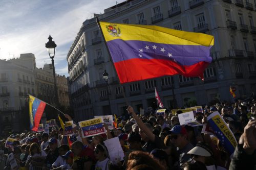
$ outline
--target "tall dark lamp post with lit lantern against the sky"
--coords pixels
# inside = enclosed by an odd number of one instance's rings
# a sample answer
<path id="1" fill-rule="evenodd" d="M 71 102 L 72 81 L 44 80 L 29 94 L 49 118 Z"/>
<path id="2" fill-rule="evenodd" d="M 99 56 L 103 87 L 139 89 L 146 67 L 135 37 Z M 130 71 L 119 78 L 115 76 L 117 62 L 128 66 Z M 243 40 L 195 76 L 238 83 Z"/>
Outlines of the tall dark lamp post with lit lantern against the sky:
<path id="1" fill-rule="evenodd" d="M 56 83 L 56 76 L 55 76 L 55 67 L 54 67 L 54 56 L 55 56 L 55 47 L 57 46 L 54 41 L 52 41 L 51 35 L 48 37 L 49 41 L 46 43 L 46 48 L 49 53 L 50 58 L 52 59 L 52 70 L 53 70 L 53 82 L 54 82 L 54 91 L 56 96 L 56 105 L 59 106 L 59 98 L 58 98 L 58 91 L 57 91 L 57 83 Z"/>

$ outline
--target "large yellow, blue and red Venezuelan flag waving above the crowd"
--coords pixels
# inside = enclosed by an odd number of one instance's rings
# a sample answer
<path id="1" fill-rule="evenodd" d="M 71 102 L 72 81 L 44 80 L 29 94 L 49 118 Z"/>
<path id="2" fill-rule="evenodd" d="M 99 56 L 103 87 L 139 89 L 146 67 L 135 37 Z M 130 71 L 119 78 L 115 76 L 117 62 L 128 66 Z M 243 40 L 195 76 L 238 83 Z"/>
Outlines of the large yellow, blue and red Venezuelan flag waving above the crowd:
<path id="1" fill-rule="evenodd" d="M 99 22 L 120 83 L 167 75 L 201 77 L 214 37 L 159 26 Z"/>

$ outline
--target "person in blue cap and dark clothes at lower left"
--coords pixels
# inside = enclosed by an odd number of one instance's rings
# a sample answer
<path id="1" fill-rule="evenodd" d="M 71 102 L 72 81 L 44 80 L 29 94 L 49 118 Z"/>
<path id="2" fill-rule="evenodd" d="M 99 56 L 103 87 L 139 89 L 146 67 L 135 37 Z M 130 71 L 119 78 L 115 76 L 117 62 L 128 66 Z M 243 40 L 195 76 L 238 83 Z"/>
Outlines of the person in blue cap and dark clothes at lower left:
<path id="1" fill-rule="evenodd" d="M 45 164 L 46 164 L 46 167 L 51 168 L 53 162 L 55 162 L 59 156 L 58 140 L 56 138 L 51 138 L 49 139 L 48 144 L 49 144 L 50 151 L 46 156 Z"/>

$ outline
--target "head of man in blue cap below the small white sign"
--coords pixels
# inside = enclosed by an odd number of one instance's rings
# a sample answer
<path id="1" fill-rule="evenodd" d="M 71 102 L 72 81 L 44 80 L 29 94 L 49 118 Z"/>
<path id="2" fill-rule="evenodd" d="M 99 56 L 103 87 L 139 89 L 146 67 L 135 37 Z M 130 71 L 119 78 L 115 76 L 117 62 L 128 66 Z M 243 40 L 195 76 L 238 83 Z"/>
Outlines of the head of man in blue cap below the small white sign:
<path id="1" fill-rule="evenodd" d="M 170 130 L 170 137 L 175 147 L 182 149 L 188 143 L 187 131 L 185 127 L 176 125 Z"/>

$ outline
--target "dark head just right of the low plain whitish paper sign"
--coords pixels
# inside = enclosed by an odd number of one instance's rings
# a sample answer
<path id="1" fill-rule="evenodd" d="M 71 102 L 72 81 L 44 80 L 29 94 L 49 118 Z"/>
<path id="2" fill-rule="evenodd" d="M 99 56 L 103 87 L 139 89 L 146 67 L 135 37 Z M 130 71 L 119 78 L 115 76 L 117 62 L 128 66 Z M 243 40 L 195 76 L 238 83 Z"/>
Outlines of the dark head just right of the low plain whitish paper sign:
<path id="1" fill-rule="evenodd" d="M 129 133 L 127 142 L 130 150 L 141 150 L 141 137 L 137 132 Z"/>

